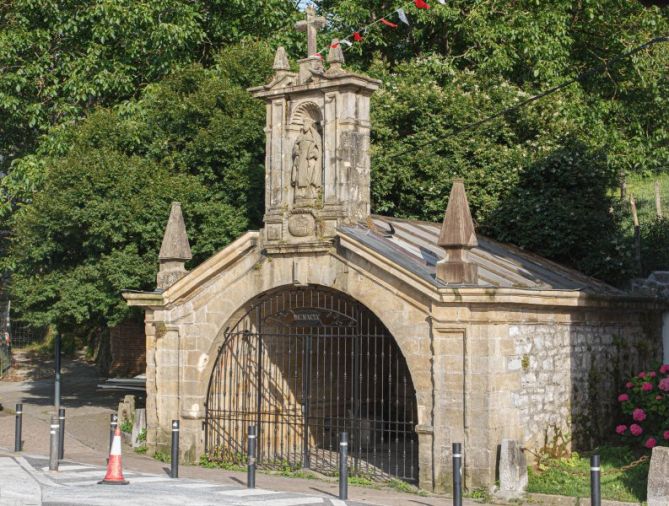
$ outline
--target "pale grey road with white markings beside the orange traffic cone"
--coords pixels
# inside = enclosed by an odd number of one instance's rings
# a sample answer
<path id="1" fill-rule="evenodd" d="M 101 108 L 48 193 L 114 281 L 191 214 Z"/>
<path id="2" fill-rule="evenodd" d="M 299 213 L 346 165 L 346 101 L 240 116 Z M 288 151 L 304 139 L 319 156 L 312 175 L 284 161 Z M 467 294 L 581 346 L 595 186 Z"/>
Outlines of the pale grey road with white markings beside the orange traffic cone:
<path id="1" fill-rule="evenodd" d="M 173 480 L 166 475 L 125 472 L 126 486 L 99 485 L 105 468 L 64 461 L 58 472 L 48 470 L 39 456 L 0 456 L 0 505 L 168 506 L 353 506 L 340 501 L 271 490 L 249 490 L 243 485 L 221 485 L 204 480 Z"/>

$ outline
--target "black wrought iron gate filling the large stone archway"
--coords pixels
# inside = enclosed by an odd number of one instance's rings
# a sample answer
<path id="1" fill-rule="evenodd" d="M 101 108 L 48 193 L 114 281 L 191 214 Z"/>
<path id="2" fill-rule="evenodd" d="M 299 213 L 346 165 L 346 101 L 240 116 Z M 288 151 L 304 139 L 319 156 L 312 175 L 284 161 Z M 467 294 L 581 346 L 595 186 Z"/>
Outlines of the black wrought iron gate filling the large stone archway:
<path id="1" fill-rule="evenodd" d="M 226 331 L 209 383 L 209 459 L 337 472 L 339 433 L 350 468 L 372 479 L 418 478 L 416 396 L 395 340 L 368 309 L 325 288 L 265 295 Z"/>

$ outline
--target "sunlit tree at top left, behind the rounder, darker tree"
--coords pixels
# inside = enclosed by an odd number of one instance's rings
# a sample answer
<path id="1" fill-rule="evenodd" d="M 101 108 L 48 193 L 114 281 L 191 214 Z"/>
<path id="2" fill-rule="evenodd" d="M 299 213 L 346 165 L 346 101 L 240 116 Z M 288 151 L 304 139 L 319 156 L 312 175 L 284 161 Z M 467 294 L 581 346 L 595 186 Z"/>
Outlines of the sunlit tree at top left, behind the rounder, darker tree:
<path id="1" fill-rule="evenodd" d="M 0 214 L 29 198 L 42 171 L 32 153 L 54 127 L 138 96 L 175 68 L 209 65 L 221 46 L 273 35 L 290 0 L 10 0 L 0 5 Z"/>

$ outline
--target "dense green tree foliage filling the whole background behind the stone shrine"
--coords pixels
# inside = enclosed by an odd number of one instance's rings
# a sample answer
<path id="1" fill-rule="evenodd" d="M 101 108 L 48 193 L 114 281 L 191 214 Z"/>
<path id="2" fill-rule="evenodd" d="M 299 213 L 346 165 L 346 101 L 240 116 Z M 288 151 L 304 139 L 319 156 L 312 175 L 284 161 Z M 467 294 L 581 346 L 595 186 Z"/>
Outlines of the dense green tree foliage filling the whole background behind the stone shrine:
<path id="1" fill-rule="evenodd" d="M 462 176 L 480 232 L 613 282 L 635 274 L 629 210 L 613 188 L 620 173 L 669 167 L 669 44 L 469 125 L 669 34 L 667 9 L 429 3 L 407 9 L 410 29 L 377 24 L 346 52 L 384 82 L 372 104 L 373 210 L 440 220 Z M 330 21 L 322 46 L 396 6 L 317 5 Z M 118 291 L 153 286 L 172 199 L 184 203 L 194 263 L 260 225 L 264 109 L 245 87 L 268 78 L 279 43 L 302 56 L 303 35 L 288 29 L 297 17 L 289 0 L 0 7 L 0 219 L 12 229 L 2 264 L 25 319 L 122 318 Z M 661 220 L 642 230 L 653 266 L 665 258 L 651 241 L 666 230 Z"/>

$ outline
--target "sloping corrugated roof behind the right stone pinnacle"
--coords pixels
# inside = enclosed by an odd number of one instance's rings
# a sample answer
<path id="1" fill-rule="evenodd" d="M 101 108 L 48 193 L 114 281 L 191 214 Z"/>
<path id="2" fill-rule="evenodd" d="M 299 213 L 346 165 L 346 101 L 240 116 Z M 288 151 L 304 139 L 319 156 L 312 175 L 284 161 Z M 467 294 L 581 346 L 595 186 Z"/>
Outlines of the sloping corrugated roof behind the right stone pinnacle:
<path id="1" fill-rule="evenodd" d="M 341 227 L 340 232 L 382 254 L 435 286 L 435 266 L 444 258 L 437 246 L 441 224 L 372 216 L 369 226 Z M 470 252 L 478 265 L 478 286 L 533 290 L 576 290 L 622 295 L 624 292 L 518 247 L 477 235 L 478 246 Z"/>

